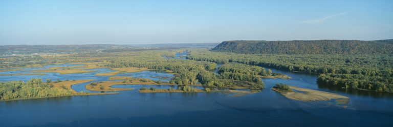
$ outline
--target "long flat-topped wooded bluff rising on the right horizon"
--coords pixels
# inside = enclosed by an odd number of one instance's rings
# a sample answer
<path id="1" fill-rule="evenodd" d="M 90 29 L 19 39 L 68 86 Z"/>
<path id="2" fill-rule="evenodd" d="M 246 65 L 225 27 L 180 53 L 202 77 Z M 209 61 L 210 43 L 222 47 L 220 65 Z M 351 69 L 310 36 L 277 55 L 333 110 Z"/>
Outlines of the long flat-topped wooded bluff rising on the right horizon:
<path id="1" fill-rule="evenodd" d="M 224 41 L 212 51 L 243 54 L 393 54 L 393 39 Z"/>

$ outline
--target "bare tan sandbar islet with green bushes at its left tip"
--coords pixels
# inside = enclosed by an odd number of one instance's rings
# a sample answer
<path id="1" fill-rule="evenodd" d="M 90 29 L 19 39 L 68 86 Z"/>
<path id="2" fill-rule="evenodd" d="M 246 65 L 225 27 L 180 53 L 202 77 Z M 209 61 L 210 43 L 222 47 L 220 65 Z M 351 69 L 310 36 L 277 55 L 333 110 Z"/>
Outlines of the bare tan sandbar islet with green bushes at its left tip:
<path id="1" fill-rule="evenodd" d="M 340 94 L 331 93 L 331 92 L 299 88 L 295 86 L 290 86 L 290 88 L 301 92 L 297 92 L 297 91 L 285 92 L 277 89 L 273 89 L 273 90 L 281 93 L 283 96 L 285 96 L 288 99 L 302 101 L 302 102 L 329 101 L 331 99 L 342 99 L 342 100 L 346 100 L 345 102 L 348 102 L 348 100 L 350 99 L 348 97 L 341 96 Z"/>

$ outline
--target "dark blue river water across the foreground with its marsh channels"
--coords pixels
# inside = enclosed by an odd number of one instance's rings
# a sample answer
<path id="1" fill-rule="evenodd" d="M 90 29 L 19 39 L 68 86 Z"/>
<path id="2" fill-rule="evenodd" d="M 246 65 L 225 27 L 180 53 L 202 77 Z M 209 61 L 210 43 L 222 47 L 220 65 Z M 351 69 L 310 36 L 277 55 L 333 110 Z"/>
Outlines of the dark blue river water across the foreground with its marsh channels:
<path id="1" fill-rule="evenodd" d="M 68 75 L 47 73 L 36 77 L 106 81 L 107 76 L 95 74 L 111 70 L 96 71 Z M 136 90 L 99 96 L 0 102 L 0 126 L 393 126 L 391 94 L 325 88 L 316 83 L 316 75 L 272 71 L 292 78 L 263 79 L 265 89 L 261 92 L 239 97 L 221 92 L 139 93 L 137 89 L 141 87 L 177 86 L 114 85 Z M 119 75 L 170 80 L 163 79 L 169 76 L 164 72 Z M 26 81 L 30 77 L 0 76 L 0 81 Z M 350 97 L 350 102 L 336 105 L 333 101 L 290 100 L 271 90 L 276 83 L 342 94 Z M 74 85 L 73 89 L 83 90 L 84 84 Z"/>

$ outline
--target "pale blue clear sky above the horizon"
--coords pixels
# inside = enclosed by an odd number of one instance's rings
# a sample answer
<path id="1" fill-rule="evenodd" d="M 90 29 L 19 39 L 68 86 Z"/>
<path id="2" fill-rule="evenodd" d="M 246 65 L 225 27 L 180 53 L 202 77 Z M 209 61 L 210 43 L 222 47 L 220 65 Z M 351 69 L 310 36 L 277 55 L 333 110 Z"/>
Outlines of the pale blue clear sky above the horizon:
<path id="1" fill-rule="evenodd" d="M 393 1 L 0 1 L 0 45 L 393 39 Z"/>

